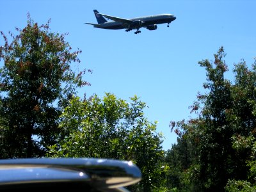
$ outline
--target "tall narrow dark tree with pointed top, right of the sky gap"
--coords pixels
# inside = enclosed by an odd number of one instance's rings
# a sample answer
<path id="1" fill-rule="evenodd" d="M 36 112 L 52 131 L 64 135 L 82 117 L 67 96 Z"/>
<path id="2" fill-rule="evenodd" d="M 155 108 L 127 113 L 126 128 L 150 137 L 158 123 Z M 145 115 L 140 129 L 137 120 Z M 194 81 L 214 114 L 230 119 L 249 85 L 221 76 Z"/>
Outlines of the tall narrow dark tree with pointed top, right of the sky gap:
<path id="1" fill-rule="evenodd" d="M 224 57 L 225 52 L 221 47 L 214 54 L 215 67 L 209 60 L 199 62 L 207 71 L 208 82 L 204 84 L 204 88 L 209 90 L 205 95 L 198 95 L 199 102 L 203 104 L 197 127 L 201 133 L 198 143 L 199 180 L 203 184 L 202 189 L 210 191 L 223 190 L 228 178 L 235 173 L 232 159 L 234 150 L 230 142 L 234 132 L 227 119 L 227 111 L 232 107 L 231 84 L 224 77 L 228 70 Z"/>

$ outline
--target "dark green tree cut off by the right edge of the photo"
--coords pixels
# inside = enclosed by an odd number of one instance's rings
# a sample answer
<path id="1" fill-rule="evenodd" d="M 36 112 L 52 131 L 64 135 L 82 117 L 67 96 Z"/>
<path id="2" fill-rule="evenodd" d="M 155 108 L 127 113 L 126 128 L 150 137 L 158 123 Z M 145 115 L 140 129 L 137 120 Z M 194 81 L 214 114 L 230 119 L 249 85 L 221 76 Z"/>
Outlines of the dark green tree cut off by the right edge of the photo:
<path id="1" fill-rule="evenodd" d="M 232 147 L 247 166 L 247 177 L 230 178 L 225 189 L 230 192 L 256 191 L 256 60 L 252 69 L 246 66 L 245 61 L 241 61 L 235 65 L 234 72 L 236 84 L 233 92 L 236 95 L 236 108 L 232 110 L 232 116 L 236 119 L 237 130 L 231 139 Z"/>

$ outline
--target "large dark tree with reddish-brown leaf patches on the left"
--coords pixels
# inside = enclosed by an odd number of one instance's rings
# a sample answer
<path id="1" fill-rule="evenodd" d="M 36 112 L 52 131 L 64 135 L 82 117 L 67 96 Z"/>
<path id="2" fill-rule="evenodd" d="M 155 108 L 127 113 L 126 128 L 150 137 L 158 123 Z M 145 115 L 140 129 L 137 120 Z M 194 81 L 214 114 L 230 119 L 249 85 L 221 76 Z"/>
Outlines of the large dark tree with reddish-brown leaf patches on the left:
<path id="1" fill-rule="evenodd" d="M 42 157 L 55 143 L 61 109 L 76 88 L 88 85 L 70 64 L 77 54 L 65 35 L 49 31 L 49 23 L 38 26 L 28 14 L 28 24 L 18 29 L 12 42 L 1 31 L 0 47 L 0 139 L 1 158 Z M 89 70 L 90 71 L 90 70 Z"/>

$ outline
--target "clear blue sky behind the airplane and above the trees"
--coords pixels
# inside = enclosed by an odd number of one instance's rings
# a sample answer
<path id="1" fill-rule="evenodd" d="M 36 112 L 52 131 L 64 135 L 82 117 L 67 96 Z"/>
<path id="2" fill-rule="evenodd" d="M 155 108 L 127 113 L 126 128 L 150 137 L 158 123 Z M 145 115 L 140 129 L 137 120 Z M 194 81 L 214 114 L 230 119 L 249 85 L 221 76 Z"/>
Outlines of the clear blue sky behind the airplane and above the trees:
<path id="1" fill-rule="evenodd" d="M 0 30 L 15 32 L 24 28 L 27 13 L 38 24 L 51 19 L 52 32 L 69 33 L 65 40 L 79 54 L 80 68 L 93 74 L 84 77 L 92 83 L 80 90 L 81 96 L 111 92 L 120 99 L 138 95 L 147 103 L 145 116 L 158 122 L 163 132 L 163 149 L 170 149 L 177 137 L 170 132 L 171 120 L 188 120 L 189 106 L 197 92 L 204 92 L 205 70 L 198 61 L 213 60 L 223 46 L 232 80 L 234 63 L 244 59 L 252 65 L 256 56 L 256 1 L 250 0 L 1 0 Z M 132 18 L 172 13 L 176 20 L 156 31 L 97 29 L 84 22 L 96 23 L 93 9 L 116 17 Z M 16 32 L 15 32 L 16 33 Z M 3 44 L 3 39 L 0 39 Z M 3 62 L 3 61 L 1 61 Z M 1 63 L 3 65 L 3 63 Z"/>

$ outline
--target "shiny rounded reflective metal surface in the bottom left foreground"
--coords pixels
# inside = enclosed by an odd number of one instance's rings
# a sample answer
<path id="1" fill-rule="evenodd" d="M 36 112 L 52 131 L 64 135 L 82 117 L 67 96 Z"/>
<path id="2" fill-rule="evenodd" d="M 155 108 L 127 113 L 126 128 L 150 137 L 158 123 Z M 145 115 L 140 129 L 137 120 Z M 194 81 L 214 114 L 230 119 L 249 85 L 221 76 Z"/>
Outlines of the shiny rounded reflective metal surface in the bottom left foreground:
<path id="1" fill-rule="evenodd" d="M 131 161 L 93 158 L 1 159 L 0 191 L 127 191 L 141 180 Z"/>

